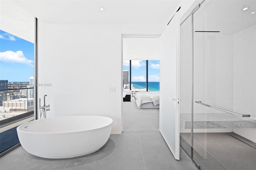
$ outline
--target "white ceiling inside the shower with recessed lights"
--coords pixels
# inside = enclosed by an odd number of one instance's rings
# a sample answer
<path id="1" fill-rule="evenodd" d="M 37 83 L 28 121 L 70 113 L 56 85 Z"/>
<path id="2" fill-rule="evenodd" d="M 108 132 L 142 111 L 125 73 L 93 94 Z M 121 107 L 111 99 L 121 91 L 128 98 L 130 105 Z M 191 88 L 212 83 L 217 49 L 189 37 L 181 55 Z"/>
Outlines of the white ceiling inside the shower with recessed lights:
<path id="1" fill-rule="evenodd" d="M 245 7 L 249 8 L 243 11 Z M 194 31 L 220 31 L 210 34 L 234 34 L 256 24 L 256 13 L 250 14 L 253 11 L 256 12 L 256 0 L 204 1 L 194 13 Z"/>

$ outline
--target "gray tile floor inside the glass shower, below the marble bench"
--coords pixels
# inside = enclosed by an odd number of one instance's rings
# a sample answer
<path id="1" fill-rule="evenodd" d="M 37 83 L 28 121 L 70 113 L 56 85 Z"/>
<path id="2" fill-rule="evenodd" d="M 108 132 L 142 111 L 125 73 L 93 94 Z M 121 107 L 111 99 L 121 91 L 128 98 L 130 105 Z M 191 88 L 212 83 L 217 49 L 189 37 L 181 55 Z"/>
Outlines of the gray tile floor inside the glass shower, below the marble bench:
<path id="1" fill-rule="evenodd" d="M 190 134 L 181 136 L 190 141 Z M 202 169 L 256 169 L 256 149 L 226 133 L 194 133 L 194 156 Z"/>

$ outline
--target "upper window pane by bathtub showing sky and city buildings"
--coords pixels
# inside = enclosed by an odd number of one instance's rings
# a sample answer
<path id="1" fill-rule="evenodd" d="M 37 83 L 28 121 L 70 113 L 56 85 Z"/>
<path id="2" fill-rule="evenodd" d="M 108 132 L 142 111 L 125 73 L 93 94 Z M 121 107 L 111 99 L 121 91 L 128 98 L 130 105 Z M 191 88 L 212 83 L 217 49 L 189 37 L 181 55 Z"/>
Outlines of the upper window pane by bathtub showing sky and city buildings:
<path id="1" fill-rule="evenodd" d="M 34 110 L 34 44 L 0 30 L 0 121 Z"/>

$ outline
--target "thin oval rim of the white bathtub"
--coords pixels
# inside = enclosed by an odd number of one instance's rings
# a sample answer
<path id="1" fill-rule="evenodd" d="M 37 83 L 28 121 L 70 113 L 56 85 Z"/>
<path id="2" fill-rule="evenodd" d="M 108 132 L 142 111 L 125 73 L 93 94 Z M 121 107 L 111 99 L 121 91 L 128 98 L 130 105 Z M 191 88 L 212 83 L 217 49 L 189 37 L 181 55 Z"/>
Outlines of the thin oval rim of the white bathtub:
<path id="1" fill-rule="evenodd" d="M 75 116 L 104 117 L 104 118 L 110 119 L 110 124 L 108 124 L 108 125 L 106 125 L 106 126 L 102 126 L 102 127 L 100 127 L 100 128 L 94 128 L 94 129 L 89 129 L 89 130 L 78 130 L 78 131 L 72 131 L 72 132 L 26 132 L 26 131 L 23 131 L 23 130 L 20 129 L 21 126 L 23 126 L 23 125 L 25 125 L 25 124 L 29 124 L 29 123 L 31 123 L 31 122 L 36 122 L 36 121 L 42 120 L 42 119 L 37 119 L 37 120 L 32 120 L 32 121 L 30 121 L 30 122 L 26 122 L 26 123 L 24 123 L 24 124 L 19 125 L 19 126 L 16 128 L 16 130 L 17 130 L 17 132 L 19 131 L 19 132 L 22 132 L 22 133 L 31 133 L 31 134 L 66 134 L 66 133 L 76 133 L 76 132 L 86 132 L 86 131 L 90 131 L 90 130 L 97 130 L 97 129 L 101 129 L 101 128 L 105 128 L 105 127 L 107 127 L 107 126 L 110 126 L 110 125 L 112 125 L 112 123 L 113 123 L 113 119 L 110 118 L 110 117 L 107 117 L 107 116 L 95 116 L 95 115 L 56 116 L 56 117 L 51 117 L 51 118 L 57 118 L 57 117 L 75 117 Z M 50 119 L 50 118 L 44 118 L 44 119 Z"/>

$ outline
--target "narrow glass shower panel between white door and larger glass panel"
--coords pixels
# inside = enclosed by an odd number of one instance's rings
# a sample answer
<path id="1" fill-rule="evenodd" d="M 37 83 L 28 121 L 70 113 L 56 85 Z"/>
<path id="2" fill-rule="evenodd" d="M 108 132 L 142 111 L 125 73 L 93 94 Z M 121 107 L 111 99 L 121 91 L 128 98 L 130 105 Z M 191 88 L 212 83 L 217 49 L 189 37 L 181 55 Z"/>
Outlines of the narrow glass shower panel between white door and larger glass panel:
<path id="1" fill-rule="evenodd" d="M 191 157 L 192 16 L 180 25 L 180 146 Z"/>

